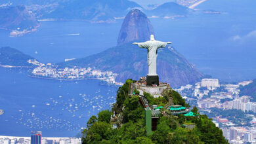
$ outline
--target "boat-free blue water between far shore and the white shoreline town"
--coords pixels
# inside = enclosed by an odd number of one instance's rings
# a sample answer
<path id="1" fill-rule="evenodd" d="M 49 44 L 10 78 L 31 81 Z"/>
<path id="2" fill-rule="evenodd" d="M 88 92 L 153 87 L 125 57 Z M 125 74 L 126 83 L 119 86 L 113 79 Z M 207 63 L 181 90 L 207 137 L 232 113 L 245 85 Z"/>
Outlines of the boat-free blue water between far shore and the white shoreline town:
<path id="1" fill-rule="evenodd" d="M 0 30 L 0 47 L 11 46 L 44 63 L 64 62 L 66 58 L 83 58 L 116 46 L 120 28 L 121 21 L 47 21 L 41 22 L 34 33 L 22 37 L 9 37 L 10 31 Z"/>

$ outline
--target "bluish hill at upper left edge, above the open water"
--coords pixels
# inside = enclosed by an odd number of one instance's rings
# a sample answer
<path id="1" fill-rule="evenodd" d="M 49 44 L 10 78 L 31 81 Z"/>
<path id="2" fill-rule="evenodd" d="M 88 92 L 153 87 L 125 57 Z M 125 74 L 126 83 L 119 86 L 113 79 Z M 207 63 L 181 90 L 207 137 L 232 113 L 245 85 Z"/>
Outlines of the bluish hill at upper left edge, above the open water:
<path id="1" fill-rule="evenodd" d="M 39 26 L 39 22 L 24 6 L 0 7 L 0 29 L 29 30 L 37 26 Z"/>

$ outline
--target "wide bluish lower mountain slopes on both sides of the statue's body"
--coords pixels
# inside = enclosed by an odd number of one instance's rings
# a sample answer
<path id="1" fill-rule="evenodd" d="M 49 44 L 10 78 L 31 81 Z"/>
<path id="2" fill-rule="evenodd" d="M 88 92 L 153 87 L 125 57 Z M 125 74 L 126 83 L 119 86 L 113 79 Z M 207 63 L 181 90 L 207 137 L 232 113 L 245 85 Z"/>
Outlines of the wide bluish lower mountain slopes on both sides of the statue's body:
<path id="1" fill-rule="evenodd" d="M 177 87 L 200 81 L 203 74 L 196 70 L 186 59 L 173 48 L 158 51 L 157 73 L 160 81 L 169 82 Z M 59 63 L 60 67 L 95 67 L 101 71 L 117 73 L 116 81 L 139 79 L 148 73 L 147 50 L 136 45 L 125 45 L 109 48 L 98 54 L 79 58 L 70 62 Z"/>

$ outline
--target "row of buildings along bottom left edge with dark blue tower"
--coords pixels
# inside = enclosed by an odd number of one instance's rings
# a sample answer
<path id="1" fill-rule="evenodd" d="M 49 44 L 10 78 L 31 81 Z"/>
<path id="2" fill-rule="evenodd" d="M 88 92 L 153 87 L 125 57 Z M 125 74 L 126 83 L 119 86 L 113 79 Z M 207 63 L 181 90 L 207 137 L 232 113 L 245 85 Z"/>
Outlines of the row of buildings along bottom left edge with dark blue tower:
<path id="1" fill-rule="evenodd" d="M 32 132 L 31 137 L 0 136 L 1 144 L 81 144 L 81 138 L 42 137 L 41 132 Z"/>

